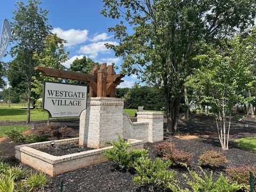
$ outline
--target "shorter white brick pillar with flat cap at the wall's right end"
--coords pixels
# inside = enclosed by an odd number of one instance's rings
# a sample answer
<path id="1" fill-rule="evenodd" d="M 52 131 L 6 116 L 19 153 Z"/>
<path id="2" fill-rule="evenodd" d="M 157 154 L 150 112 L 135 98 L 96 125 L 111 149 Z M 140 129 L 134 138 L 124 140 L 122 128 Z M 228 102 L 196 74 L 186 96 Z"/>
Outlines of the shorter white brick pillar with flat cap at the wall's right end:
<path id="1" fill-rule="evenodd" d="M 164 139 L 164 116 L 162 112 L 139 111 L 137 122 L 148 122 L 148 142 Z"/>

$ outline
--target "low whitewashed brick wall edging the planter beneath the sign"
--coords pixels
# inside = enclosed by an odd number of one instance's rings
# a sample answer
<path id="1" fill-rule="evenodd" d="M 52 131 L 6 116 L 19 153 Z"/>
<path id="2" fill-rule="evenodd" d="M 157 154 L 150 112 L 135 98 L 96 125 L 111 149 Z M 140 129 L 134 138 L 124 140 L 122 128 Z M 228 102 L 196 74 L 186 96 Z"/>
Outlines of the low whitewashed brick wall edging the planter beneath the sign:
<path id="1" fill-rule="evenodd" d="M 78 138 L 57 140 L 54 141 L 54 145 L 78 143 L 78 140 Z M 143 148 L 143 141 L 141 140 L 128 139 L 128 142 L 131 143 L 131 148 Z M 60 173 L 106 162 L 107 159 L 104 157 L 103 152 L 107 149 L 113 148 L 113 146 L 110 146 L 63 156 L 53 156 L 34 149 L 50 145 L 51 141 L 15 146 L 15 157 L 18 158 L 22 163 L 34 167 L 36 170 L 42 171 L 51 176 L 55 176 Z"/>

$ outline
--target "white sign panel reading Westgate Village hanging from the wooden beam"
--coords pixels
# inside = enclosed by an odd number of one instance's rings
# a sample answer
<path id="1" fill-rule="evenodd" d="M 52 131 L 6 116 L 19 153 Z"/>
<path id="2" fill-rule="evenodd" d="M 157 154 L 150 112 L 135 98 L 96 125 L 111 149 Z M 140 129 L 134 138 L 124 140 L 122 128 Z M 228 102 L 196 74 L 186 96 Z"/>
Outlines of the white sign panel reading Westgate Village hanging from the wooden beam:
<path id="1" fill-rule="evenodd" d="M 86 109 L 87 86 L 45 82 L 43 109 L 51 117 L 78 117 Z"/>

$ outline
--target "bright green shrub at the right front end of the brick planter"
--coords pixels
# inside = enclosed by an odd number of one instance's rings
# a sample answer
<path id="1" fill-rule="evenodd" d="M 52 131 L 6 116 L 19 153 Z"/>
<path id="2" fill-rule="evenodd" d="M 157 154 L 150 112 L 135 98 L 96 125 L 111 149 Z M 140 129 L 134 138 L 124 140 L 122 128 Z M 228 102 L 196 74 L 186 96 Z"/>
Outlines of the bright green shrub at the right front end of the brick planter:
<path id="1" fill-rule="evenodd" d="M 118 140 L 113 141 L 111 144 L 113 148 L 105 151 L 105 157 L 115 162 L 119 169 L 122 170 L 132 170 L 134 162 L 148 154 L 146 149 L 132 149 L 128 151 L 127 149 L 130 147 L 130 144 L 121 137 L 118 137 Z"/>

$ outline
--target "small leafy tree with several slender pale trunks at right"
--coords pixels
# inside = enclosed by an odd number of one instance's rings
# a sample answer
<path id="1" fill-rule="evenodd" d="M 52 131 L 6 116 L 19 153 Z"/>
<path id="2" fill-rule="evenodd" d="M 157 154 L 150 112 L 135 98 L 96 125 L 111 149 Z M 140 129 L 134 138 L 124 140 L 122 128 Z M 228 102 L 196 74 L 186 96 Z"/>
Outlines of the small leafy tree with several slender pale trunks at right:
<path id="1" fill-rule="evenodd" d="M 249 84 L 255 85 L 251 66 L 256 57 L 256 27 L 249 37 L 235 36 L 221 47 L 214 47 L 195 59 L 205 63 L 189 78 L 187 84 L 196 91 L 201 101 L 211 106 L 223 150 L 228 149 L 229 131 L 234 106 L 245 100 Z M 228 121 L 227 117 L 228 116 Z"/>

